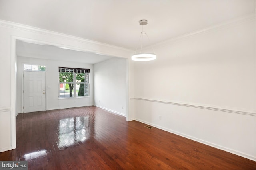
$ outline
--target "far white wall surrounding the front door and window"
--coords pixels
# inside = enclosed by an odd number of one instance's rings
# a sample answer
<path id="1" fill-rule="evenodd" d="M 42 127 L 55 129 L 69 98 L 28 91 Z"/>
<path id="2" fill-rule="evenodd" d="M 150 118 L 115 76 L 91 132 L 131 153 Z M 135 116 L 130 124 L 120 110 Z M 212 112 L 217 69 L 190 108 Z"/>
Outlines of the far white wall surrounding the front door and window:
<path id="1" fill-rule="evenodd" d="M 46 110 L 63 109 L 70 107 L 92 106 L 93 105 L 93 76 L 90 76 L 90 97 L 80 98 L 58 98 L 59 80 L 58 67 L 87 68 L 90 75 L 93 75 L 93 64 L 36 59 L 30 57 L 18 57 L 18 113 L 22 113 L 22 90 L 23 90 L 23 64 L 39 64 L 46 66 Z"/>

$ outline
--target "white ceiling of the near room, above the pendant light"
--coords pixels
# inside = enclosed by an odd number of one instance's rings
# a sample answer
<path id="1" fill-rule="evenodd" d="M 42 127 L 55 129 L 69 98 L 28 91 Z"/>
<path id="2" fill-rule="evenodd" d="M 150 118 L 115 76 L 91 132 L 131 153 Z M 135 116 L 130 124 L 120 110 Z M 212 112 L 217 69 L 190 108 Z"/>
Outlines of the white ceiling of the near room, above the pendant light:
<path id="1" fill-rule="evenodd" d="M 135 50 L 251 14 L 255 0 L 0 0 L 0 19 Z M 149 45 L 149 44 L 145 44 Z"/>

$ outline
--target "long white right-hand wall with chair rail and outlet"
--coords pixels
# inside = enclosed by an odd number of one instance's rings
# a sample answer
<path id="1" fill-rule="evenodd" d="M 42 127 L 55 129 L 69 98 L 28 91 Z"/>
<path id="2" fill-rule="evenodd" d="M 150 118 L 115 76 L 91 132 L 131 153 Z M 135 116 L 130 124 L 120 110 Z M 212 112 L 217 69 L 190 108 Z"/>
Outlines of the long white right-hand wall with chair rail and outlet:
<path id="1" fill-rule="evenodd" d="M 252 18 L 156 45 L 135 63 L 135 119 L 256 160 L 255 30 Z"/>

